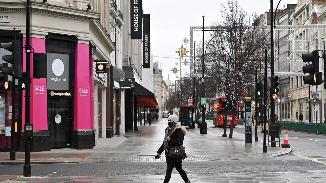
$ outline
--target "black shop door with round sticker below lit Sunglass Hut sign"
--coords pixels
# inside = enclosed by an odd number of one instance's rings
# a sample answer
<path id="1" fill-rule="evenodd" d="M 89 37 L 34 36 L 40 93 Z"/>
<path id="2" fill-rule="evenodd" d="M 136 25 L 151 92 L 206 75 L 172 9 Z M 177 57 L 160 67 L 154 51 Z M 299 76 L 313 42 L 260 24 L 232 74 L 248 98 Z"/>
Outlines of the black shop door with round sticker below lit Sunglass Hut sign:
<path id="1" fill-rule="evenodd" d="M 48 99 L 48 129 L 51 134 L 51 148 L 70 148 L 72 146 L 72 99 Z"/>

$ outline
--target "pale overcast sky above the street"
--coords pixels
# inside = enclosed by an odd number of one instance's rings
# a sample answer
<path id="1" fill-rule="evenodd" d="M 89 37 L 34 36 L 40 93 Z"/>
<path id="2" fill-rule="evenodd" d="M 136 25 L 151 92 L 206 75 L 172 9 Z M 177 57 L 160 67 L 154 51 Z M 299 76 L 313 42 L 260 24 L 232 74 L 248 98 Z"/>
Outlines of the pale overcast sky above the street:
<path id="1" fill-rule="evenodd" d="M 226 2 L 227 0 L 142 0 L 144 14 L 151 16 L 153 62 L 159 62 L 159 66 L 162 63 L 164 79 L 168 78 L 168 74 L 170 79 L 175 79 L 171 71 L 175 62 L 179 62 L 178 53 L 175 51 L 181 47 L 185 37 L 190 39 L 190 26 L 202 26 L 202 15 L 205 16 L 205 26 L 218 21 L 219 5 Z M 277 3 L 278 1 L 274 1 L 274 9 Z M 282 0 L 278 9 L 283 9 L 286 4 L 296 3 L 298 0 Z M 270 9 L 270 0 L 239 0 L 239 4 L 248 14 L 262 14 Z M 201 35 L 202 33 L 197 31 L 194 40 L 200 41 Z M 189 48 L 187 50 L 190 51 Z"/>

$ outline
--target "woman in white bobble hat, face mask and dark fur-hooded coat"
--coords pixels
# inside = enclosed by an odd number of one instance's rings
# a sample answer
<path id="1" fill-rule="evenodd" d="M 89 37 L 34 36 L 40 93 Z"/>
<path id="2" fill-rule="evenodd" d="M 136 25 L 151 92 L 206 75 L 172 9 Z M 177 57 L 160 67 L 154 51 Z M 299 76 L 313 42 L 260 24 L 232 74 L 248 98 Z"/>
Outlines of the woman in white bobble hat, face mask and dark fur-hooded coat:
<path id="1" fill-rule="evenodd" d="M 159 157 L 162 152 L 165 151 L 165 158 L 167 163 L 166 174 L 163 183 L 169 183 L 172 170 L 175 168 L 185 183 L 190 183 L 187 174 L 182 169 L 182 159 L 172 159 L 168 157 L 168 152 L 171 147 L 183 145 L 184 136 L 187 131 L 184 126 L 180 126 L 178 123 L 178 115 L 172 114 L 168 118 L 168 127 L 165 129 L 165 136 L 161 147 L 158 149 L 157 154 Z"/>

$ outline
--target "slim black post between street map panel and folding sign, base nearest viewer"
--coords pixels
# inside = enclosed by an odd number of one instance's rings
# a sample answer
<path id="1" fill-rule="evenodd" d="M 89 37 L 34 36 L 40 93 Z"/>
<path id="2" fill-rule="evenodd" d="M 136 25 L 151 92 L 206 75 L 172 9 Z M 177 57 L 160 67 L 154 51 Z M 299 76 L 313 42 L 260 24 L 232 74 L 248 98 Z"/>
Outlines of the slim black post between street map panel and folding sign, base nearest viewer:
<path id="1" fill-rule="evenodd" d="M 263 138 L 263 152 L 267 152 L 266 145 L 266 128 L 267 128 L 267 49 L 265 48 L 265 67 L 264 67 L 264 114 L 262 115 L 264 118 L 264 138 Z M 262 117 L 261 116 L 261 117 Z M 260 117 L 260 118 L 261 118 Z"/>

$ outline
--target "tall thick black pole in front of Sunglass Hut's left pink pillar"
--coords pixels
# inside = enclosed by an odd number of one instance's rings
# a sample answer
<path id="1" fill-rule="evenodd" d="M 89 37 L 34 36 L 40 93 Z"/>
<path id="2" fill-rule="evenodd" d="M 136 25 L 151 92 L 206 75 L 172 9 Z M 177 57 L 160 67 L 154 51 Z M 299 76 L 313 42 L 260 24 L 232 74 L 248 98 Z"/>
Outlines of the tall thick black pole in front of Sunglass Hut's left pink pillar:
<path id="1" fill-rule="evenodd" d="M 30 50 L 31 50 L 31 0 L 26 0 L 26 91 L 25 91 L 25 124 L 30 124 L 30 88 L 31 88 L 31 69 L 30 69 Z M 25 130 L 25 129 L 24 129 Z M 26 133 L 26 131 L 25 131 Z M 31 160 L 30 160 L 30 137 L 25 135 L 25 162 L 24 162 L 24 177 L 31 177 Z"/>

